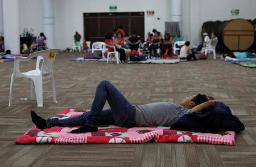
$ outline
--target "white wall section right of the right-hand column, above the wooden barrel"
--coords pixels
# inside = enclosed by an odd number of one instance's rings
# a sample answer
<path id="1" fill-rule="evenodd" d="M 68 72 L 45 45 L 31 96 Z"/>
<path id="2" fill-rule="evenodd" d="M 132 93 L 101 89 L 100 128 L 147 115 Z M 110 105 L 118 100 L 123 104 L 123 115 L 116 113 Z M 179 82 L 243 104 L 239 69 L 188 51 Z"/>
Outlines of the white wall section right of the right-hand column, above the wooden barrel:
<path id="1" fill-rule="evenodd" d="M 183 0 L 183 25 L 187 23 L 187 28 L 183 28 L 183 35 L 188 35 L 192 45 L 198 45 L 204 22 L 237 18 L 253 20 L 256 18 L 255 7 L 255 0 Z M 232 15 L 232 9 L 239 9 L 240 13 Z M 185 16 L 187 13 L 190 14 L 189 17 Z"/>

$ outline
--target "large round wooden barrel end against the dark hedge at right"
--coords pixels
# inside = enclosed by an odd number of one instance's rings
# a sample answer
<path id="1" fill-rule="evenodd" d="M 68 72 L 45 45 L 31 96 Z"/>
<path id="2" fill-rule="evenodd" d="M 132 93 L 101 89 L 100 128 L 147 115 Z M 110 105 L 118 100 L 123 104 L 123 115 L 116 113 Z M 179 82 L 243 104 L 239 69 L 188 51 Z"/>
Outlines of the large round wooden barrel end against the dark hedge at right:
<path id="1" fill-rule="evenodd" d="M 246 50 L 253 45 L 255 29 L 245 19 L 234 19 L 224 23 L 219 29 L 224 45 L 230 50 Z"/>

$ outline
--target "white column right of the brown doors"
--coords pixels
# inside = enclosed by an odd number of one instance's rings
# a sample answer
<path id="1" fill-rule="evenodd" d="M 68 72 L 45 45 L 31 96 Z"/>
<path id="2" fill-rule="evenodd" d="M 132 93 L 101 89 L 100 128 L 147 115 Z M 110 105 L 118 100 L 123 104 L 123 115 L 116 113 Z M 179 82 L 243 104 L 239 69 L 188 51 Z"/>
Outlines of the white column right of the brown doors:
<path id="1" fill-rule="evenodd" d="M 171 19 L 170 22 L 179 22 L 180 25 L 180 35 L 182 34 L 182 0 L 170 0 L 171 5 Z"/>

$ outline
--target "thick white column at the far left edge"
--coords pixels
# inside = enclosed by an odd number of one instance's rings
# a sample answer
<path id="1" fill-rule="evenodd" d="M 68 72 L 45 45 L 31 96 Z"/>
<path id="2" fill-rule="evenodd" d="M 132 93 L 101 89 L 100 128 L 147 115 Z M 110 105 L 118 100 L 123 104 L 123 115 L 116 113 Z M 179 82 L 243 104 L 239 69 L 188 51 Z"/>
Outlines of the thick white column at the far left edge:
<path id="1" fill-rule="evenodd" d="M 11 50 L 11 54 L 20 54 L 18 0 L 3 0 L 3 31 L 5 50 Z"/>

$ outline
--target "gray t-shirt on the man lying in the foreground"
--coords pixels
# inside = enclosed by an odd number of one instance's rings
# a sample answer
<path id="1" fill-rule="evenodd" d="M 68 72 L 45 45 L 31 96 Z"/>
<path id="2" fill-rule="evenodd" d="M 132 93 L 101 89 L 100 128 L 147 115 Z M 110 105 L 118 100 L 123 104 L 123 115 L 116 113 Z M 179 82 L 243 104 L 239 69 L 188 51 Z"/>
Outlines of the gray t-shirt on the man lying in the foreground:
<path id="1" fill-rule="evenodd" d="M 136 123 L 139 126 L 172 126 L 189 109 L 171 102 L 155 102 L 136 107 Z"/>

